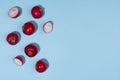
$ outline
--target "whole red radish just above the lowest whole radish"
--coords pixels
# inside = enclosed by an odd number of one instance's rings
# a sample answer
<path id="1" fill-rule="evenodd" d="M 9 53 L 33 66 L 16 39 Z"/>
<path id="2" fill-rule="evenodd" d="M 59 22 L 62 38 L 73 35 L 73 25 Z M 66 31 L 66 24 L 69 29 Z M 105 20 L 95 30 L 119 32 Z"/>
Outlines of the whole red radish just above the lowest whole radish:
<path id="1" fill-rule="evenodd" d="M 29 44 L 24 48 L 24 52 L 28 57 L 34 57 L 38 53 L 38 48 L 33 44 Z"/>

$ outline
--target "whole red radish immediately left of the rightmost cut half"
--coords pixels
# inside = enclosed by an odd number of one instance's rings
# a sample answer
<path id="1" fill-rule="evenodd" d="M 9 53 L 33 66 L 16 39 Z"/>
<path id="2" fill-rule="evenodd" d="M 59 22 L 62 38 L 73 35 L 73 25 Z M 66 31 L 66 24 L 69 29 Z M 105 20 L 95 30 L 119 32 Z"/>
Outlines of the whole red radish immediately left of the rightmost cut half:
<path id="1" fill-rule="evenodd" d="M 32 35 L 35 32 L 35 25 L 32 22 L 27 22 L 22 27 L 23 33 L 26 35 Z"/>

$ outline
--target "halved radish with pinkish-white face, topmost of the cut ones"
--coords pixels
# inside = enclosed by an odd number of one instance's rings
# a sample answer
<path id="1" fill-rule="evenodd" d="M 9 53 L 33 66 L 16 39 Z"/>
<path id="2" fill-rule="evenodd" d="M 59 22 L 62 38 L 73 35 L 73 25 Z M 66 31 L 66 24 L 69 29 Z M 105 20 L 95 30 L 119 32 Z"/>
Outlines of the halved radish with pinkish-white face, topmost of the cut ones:
<path id="1" fill-rule="evenodd" d="M 9 10 L 8 15 L 9 15 L 11 18 L 17 18 L 17 17 L 20 15 L 20 9 L 19 9 L 19 7 L 12 7 L 12 8 Z"/>

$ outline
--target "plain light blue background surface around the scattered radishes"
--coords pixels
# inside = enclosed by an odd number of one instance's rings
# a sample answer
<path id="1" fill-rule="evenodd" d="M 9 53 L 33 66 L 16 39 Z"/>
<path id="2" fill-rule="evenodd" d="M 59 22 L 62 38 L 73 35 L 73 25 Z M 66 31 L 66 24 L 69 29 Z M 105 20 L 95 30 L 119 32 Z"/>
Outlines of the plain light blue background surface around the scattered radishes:
<path id="1" fill-rule="evenodd" d="M 0 0 L 0 80 L 120 80 L 120 0 Z M 41 19 L 30 10 L 45 8 Z M 16 19 L 8 16 L 13 6 L 22 8 Z M 22 25 L 34 20 L 38 30 L 32 36 L 22 33 Z M 52 20 L 54 30 L 45 34 L 42 25 Z M 6 36 L 19 31 L 21 41 L 11 46 Z M 24 54 L 25 45 L 37 42 L 41 51 L 34 58 Z M 26 63 L 13 63 L 24 55 Z M 34 65 L 41 58 L 49 61 L 44 73 Z"/>

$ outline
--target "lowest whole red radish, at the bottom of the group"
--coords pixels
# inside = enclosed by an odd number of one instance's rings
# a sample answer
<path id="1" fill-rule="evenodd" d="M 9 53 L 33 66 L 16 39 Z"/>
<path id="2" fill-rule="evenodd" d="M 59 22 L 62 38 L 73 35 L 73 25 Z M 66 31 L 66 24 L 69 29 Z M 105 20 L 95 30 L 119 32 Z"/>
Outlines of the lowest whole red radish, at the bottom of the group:
<path id="1" fill-rule="evenodd" d="M 42 60 L 39 60 L 39 61 L 36 63 L 36 65 L 35 65 L 35 69 L 36 69 L 36 71 L 39 72 L 39 73 L 45 72 L 45 71 L 47 70 L 47 68 L 48 68 L 47 63 L 45 63 L 45 62 L 42 61 Z"/>

